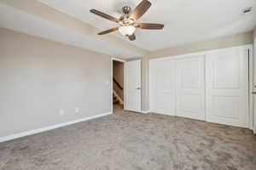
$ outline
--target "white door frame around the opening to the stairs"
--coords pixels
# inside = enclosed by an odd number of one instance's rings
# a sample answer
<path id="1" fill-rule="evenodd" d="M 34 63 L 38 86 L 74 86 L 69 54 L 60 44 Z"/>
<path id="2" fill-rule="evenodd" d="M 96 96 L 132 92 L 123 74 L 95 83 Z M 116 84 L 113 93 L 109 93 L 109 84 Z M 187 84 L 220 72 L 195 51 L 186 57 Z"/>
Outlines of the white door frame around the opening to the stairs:
<path id="1" fill-rule="evenodd" d="M 125 61 L 124 59 L 118 59 L 118 58 L 115 58 L 115 57 L 112 57 L 111 58 L 111 112 L 113 113 L 113 61 L 119 61 L 119 62 L 122 62 L 124 63 L 124 89 L 123 89 L 123 92 L 124 92 L 124 105 L 125 105 L 125 80 L 126 80 L 126 77 L 125 77 L 125 63 L 127 61 Z"/>

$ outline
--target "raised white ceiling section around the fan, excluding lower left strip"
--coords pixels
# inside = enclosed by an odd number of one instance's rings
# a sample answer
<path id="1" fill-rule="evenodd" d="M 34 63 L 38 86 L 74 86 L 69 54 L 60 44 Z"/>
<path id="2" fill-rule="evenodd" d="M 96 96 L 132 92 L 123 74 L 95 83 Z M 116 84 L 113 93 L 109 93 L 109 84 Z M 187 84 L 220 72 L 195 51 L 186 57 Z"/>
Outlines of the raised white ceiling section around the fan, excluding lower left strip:
<path id="1" fill-rule="evenodd" d="M 118 18 L 123 6 L 129 5 L 131 8 L 135 8 L 141 0 L 40 1 L 104 30 L 117 26 L 117 24 L 90 14 L 90 8 L 96 8 Z M 139 21 L 163 23 L 165 28 L 163 31 L 137 29 L 137 40 L 131 42 L 148 51 L 252 31 L 256 26 L 255 0 L 149 1 L 152 6 Z M 241 14 L 242 8 L 252 6 L 255 7 L 252 14 Z M 130 42 L 118 31 L 113 34 Z"/>

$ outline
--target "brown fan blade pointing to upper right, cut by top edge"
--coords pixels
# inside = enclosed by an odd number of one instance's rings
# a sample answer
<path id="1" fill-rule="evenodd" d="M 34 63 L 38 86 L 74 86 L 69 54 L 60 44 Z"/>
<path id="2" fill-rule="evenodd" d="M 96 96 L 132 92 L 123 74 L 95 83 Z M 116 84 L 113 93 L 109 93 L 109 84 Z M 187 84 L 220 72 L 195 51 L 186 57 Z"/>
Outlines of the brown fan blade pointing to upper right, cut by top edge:
<path id="1" fill-rule="evenodd" d="M 131 12 L 130 18 L 133 20 L 138 20 L 145 14 L 148 8 L 151 6 L 151 3 L 147 0 L 143 0 L 137 5 L 137 7 Z"/>

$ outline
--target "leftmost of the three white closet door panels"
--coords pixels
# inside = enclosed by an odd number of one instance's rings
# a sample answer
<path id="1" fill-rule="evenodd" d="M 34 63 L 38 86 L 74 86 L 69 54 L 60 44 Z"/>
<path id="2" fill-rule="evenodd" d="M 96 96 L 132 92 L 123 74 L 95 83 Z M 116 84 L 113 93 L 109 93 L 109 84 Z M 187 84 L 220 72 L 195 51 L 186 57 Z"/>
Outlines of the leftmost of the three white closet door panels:
<path id="1" fill-rule="evenodd" d="M 150 110 L 175 115 L 172 59 L 150 60 Z"/>

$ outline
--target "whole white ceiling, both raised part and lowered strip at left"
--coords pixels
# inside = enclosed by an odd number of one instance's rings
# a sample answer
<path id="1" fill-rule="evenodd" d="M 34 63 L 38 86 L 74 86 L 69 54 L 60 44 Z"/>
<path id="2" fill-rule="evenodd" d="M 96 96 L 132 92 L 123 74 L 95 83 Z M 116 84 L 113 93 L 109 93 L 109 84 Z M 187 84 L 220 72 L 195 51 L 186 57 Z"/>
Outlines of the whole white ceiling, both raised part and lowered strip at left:
<path id="1" fill-rule="evenodd" d="M 256 0 L 149 1 L 152 6 L 139 21 L 163 23 L 165 24 L 163 31 L 137 29 L 137 40 L 134 42 L 121 36 L 119 31 L 111 34 L 127 43 L 132 43 L 140 50 L 143 48 L 152 52 L 189 42 L 253 31 L 256 26 Z M 91 8 L 96 8 L 118 18 L 123 6 L 129 5 L 131 8 L 135 8 L 141 0 L 34 0 L 34 2 L 46 3 L 49 7 L 105 30 L 117 26 L 117 24 L 95 14 L 90 14 Z M 252 14 L 241 14 L 242 8 L 251 6 L 253 7 Z M 86 36 L 79 31 L 49 20 L 43 20 L 43 18 L 28 14 L 5 3 L 0 3 L 0 27 L 64 42 L 79 48 L 95 50 L 123 59 L 142 56 L 140 52 L 134 51 L 132 48 L 109 42 L 108 38 Z"/>

